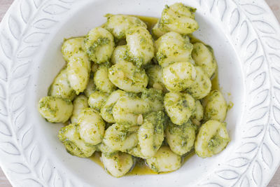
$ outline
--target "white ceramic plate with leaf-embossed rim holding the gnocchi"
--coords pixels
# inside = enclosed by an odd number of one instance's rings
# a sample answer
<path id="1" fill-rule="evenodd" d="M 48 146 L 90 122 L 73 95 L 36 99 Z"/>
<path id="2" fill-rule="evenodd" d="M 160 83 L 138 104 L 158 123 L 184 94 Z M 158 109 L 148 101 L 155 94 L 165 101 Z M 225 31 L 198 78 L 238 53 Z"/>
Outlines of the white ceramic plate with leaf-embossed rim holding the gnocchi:
<path id="1" fill-rule="evenodd" d="M 160 17 L 161 0 L 15 1 L 0 25 L 0 158 L 13 186 L 266 186 L 280 162 L 280 27 L 262 0 L 188 0 L 195 36 L 214 48 L 228 101 L 230 144 L 169 174 L 120 179 L 66 153 L 62 125 L 39 115 L 38 99 L 64 65 L 64 38 L 85 35 L 106 13 Z M 231 95 L 228 95 L 230 93 Z"/>

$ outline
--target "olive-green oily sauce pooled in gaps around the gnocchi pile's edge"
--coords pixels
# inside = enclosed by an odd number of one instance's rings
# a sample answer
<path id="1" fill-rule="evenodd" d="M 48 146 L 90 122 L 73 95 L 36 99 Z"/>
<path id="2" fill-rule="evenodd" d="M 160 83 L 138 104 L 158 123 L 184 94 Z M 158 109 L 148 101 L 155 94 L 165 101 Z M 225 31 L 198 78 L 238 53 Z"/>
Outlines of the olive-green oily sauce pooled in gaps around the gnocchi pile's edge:
<path id="1" fill-rule="evenodd" d="M 146 16 L 140 16 L 140 15 L 134 15 L 137 18 L 141 19 L 143 22 L 146 23 L 148 30 L 151 32 L 153 29 L 153 26 L 158 22 L 158 18 L 153 18 L 153 17 L 146 17 Z M 191 43 L 195 42 L 202 42 L 200 39 L 195 38 L 195 36 L 190 35 L 190 41 Z M 202 42 L 203 43 L 203 42 Z M 220 85 L 218 83 L 218 71 L 216 71 L 214 78 L 211 80 L 212 82 L 212 88 L 211 90 L 220 90 Z M 183 160 L 182 160 L 182 165 L 185 163 L 190 157 L 195 155 L 195 151 L 190 151 L 188 155 L 186 155 Z M 94 161 L 98 165 L 100 165 L 102 168 L 104 168 L 104 165 L 102 164 L 101 161 L 101 152 L 95 152 L 92 157 L 90 157 L 90 160 Z M 127 173 L 126 175 L 144 175 L 144 174 L 164 174 L 168 172 L 163 172 L 163 173 L 157 173 L 154 172 L 152 169 L 150 169 L 147 165 L 144 159 L 138 158 L 137 162 L 132 169 L 131 172 Z"/>

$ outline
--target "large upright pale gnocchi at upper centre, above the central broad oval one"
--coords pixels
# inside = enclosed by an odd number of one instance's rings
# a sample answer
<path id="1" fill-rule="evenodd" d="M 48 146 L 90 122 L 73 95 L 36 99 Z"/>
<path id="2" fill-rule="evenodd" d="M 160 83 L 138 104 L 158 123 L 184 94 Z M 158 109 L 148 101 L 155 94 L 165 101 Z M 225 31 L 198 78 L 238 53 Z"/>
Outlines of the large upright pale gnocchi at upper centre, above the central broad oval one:
<path id="1" fill-rule="evenodd" d="M 151 62 L 154 55 L 153 39 L 145 27 L 134 27 L 127 32 L 127 54 L 141 67 Z"/>

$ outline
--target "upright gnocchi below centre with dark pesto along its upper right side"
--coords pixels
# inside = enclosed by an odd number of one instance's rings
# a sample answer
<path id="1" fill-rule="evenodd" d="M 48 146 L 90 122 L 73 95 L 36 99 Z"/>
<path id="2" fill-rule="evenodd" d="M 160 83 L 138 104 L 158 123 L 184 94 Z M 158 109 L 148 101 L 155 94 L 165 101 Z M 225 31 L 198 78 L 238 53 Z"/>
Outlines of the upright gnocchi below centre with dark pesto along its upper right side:
<path id="1" fill-rule="evenodd" d="M 149 113 L 138 130 L 138 141 L 142 155 L 151 157 L 157 153 L 164 139 L 163 111 Z"/>

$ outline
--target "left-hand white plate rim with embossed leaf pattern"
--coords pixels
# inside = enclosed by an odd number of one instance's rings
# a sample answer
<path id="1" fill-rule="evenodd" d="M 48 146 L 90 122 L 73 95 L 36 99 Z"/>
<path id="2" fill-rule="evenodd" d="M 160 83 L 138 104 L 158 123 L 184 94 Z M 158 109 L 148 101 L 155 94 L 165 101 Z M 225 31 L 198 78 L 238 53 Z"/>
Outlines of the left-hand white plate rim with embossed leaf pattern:
<path id="1" fill-rule="evenodd" d="M 55 16 L 70 6 L 62 1 L 20 0 L 6 21 L 8 30 L 0 32 L 0 136 L 8 137 L 0 141 L 0 151 L 15 157 L 16 162 L 7 167 L 13 174 L 25 175 L 15 181 L 20 186 L 64 184 L 61 173 L 51 162 L 44 162 L 46 156 L 34 141 L 25 101 L 34 54 L 49 35 L 49 30 L 43 30 L 55 27 L 59 20 Z"/>

